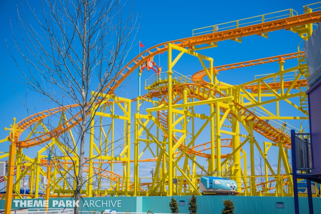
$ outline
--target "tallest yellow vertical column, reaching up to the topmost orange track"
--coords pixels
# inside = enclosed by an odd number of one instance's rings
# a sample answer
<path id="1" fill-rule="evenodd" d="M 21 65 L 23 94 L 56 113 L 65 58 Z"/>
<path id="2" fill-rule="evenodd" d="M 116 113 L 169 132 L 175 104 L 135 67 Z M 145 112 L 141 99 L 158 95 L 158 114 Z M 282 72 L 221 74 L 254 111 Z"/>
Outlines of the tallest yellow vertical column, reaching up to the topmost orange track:
<path id="1" fill-rule="evenodd" d="M 168 44 L 168 196 L 173 195 L 173 136 L 172 136 L 172 48 Z"/>

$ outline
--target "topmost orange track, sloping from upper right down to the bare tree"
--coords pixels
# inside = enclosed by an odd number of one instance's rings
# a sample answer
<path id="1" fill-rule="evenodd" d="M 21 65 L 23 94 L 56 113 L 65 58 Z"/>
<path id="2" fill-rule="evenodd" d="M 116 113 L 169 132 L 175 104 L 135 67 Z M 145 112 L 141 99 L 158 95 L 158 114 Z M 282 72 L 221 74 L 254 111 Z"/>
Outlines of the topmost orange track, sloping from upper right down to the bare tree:
<path id="1" fill-rule="evenodd" d="M 218 42 L 223 40 L 233 40 L 240 37 L 246 37 L 251 35 L 261 35 L 265 32 L 271 32 L 276 30 L 286 29 L 289 30 L 292 27 L 297 27 L 304 24 L 319 22 L 321 18 L 321 11 L 316 11 L 312 13 L 305 13 L 297 16 L 287 17 L 283 19 L 278 19 L 270 22 L 259 23 L 249 26 L 244 26 L 240 28 L 218 31 L 214 33 L 198 35 L 194 37 L 188 37 L 185 39 L 172 40 L 168 42 L 163 42 L 159 45 L 155 45 L 149 49 L 146 49 L 140 53 L 137 57 L 131 60 L 122 70 L 120 70 L 116 77 L 108 83 L 104 88 L 106 90 L 109 88 L 108 94 L 113 94 L 114 90 L 120 85 L 120 83 L 127 78 L 138 66 L 140 66 L 145 60 L 144 58 L 151 58 L 168 50 L 167 44 L 172 43 L 176 46 L 182 48 L 192 49 L 195 45 L 210 44 L 212 42 Z M 145 55 L 145 56 L 143 56 Z M 142 59 L 140 59 L 142 58 Z M 130 67 L 134 63 L 134 66 Z M 125 69 L 128 69 L 125 73 Z M 118 78 L 118 79 L 117 79 Z M 111 85 L 115 83 L 115 85 Z"/>

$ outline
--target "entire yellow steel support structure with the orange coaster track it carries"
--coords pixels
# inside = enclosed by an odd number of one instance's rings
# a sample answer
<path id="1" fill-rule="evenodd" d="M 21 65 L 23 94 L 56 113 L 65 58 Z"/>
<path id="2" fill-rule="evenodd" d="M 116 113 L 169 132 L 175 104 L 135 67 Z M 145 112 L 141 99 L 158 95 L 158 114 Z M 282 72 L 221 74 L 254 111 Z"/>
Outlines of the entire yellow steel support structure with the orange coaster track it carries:
<path id="1" fill-rule="evenodd" d="M 86 145 L 89 148 L 84 158 L 85 183 L 81 194 L 88 197 L 201 195 L 198 183 L 201 171 L 207 171 L 230 176 L 238 184 L 239 195 L 292 196 L 289 130 L 304 132 L 305 127 L 297 129 L 291 122 L 282 120 L 301 120 L 303 124 L 308 119 L 305 91 L 309 71 L 300 44 L 296 53 L 217 67 L 213 67 L 213 58 L 198 51 L 217 47 L 218 41 L 241 42 L 243 36 L 268 38 L 268 32 L 284 28 L 308 40 L 314 22 L 321 18 L 311 5 L 304 6 L 305 13 L 301 15 L 290 9 L 281 11 L 289 13 L 280 19 L 275 13 L 273 21 L 266 19 L 265 14 L 254 17 L 260 18 L 258 24 L 242 25 L 242 20 L 237 20 L 224 23 L 231 25 L 226 30 L 224 24 L 210 26 L 208 32 L 206 28 L 195 29 L 193 37 L 164 42 L 142 52 L 121 70 L 115 85 L 106 86 L 111 89 L 108 94 L 92 92 L 98 98 L 91 101 L 94 105 L 90 112 Z M 113 94 L 132 71 L 164 51 L 168 51 L 168 71 L 146 81 L 148 94 L 133 100 Z M 177 62 L 185 55 L 197 58 L 202 70 L 192 76 L 175 72 Z M 297 60 L 298 66 L 288 67 L 288 60 Z M 246 83 L 230 85 L 219 78 L 219 72 L 265 63 L 275 63 L 275 70 L 256 75 Z M 297 101 L 293 99 L 296 97 Z M 137 102 L 133 116 L 132 102 Z M 46 199 L 74 194 L 79 164 L 74 126 L 79 121 L 71 119 L 68 112 L 76 107 L 57 107 L 19 123 L 14 119 L 7 129 L 9 136 L 0 140 L 0 143 L 11 142 L 9 152 L 0 154 L 0 160 L 8 160 L 8 176 L 0 178 L 0 182 L 6 182 L 6 194 L 0 194 L 0 198 L 6 199 L 6 207 L 11 207 L 12 198 L 39 198 L 43 197 L 41 192 L 45 192 Z M 285 108 L 297 113 L 283 115 L 280 110 Z M 50 128 L 43 121 L 53 116 L 59 121 Z M 26 133 L 24 139 L 22 132 Z M 70 139 L 68 143 L 74 150 L 68 147 L 63 135 Z M 263 145 L 256 141 L 257 135 L 264 137 Z M 28 147 L 39 144 L 43 145 L 39 146 L 37 156 L 28 157 Z M 248 151 L 243 148 L 245 145 Z M 50 155 L 54 150 L 59 155 Z M 277 161 L 269 158 L 271 153 L 277 154 Z M 261 157 L 262 174 L 256 170 L 256 157 Z M 146 162 L 155 165 L 150 177 L 140 175 L 139 166 Z M 277 163 L 277 169 L 273 170 L 272 162 Z M 47 185 L 40 184 L 41 176 L 47 177 Z M 21 182 L 26 179 L 30 194 L 20 194 Z M 7 209 L 5 214 L 9 213 Z"/>

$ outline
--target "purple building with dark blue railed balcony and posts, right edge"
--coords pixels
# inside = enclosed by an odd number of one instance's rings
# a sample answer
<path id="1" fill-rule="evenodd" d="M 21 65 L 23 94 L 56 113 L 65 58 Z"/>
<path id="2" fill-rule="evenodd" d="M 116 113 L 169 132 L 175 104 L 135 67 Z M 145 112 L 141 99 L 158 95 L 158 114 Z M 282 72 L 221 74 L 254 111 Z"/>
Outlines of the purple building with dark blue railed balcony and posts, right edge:
<path id="1" fill-rule="evenodd" d="M 306 94 L 308 95 L 310 133 L 295 133 L 291 130 L 295 214 L 299 214 L 297 179 L 307 180 L 310 214 L 313 214 L 311 181 L 321 183 L 321 79 L 312 85 Z M 298 171 L 300 173 L 297 173 Z"/>

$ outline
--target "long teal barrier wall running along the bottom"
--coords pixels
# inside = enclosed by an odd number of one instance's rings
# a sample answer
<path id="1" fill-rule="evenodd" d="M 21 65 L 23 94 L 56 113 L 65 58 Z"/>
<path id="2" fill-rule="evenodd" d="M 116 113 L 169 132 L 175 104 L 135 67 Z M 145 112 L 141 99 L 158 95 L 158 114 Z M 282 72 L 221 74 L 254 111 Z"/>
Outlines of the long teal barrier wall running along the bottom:
<path id="1" fill-rule="evenodd" d="M 188 202 L 191 196 L 173 196 L 179 205 L 180 213 L 189 213 Z M 220 214 L 223 209 L 223 200 L 231 199 L 234 201 L 235 214 L 248 213 L 276 213 L 276 214 L 293 214 L 294 201 L 293 197 L 265 197 L 265 196 L 196 196 L 198 214 L 217 213 Z M 25 202 L 26 201 L 26 202 Z M 12 209 L 20 208 L 20 205 L 39 205 L 43 199 L 13 200 Z M 35 202 L 36 201 L 36 202 Z M 70 201 L 70 202 L 68 202 Z M 171 197 L 166 196 L 148 196 L 148 197 L 88 197 L 83 198 L 79 203 L 80 210 L 83 211 L 102 211 L 117 210 L 118 212 L 147 212 L 152 210 L 153 213 L 170 213 L 169 202 Z M 185 201 L 185 205 L 183 205 Z M 283 202 L 284 208 L 277 208 L 276 202 Z M 72 206 L 72 199 L 68 198 L 51 198 L 49 208 L 63 208 L 67 204 Z M 41 203 L 42 204 L 42 203 Z M 40 204 L 40 205 L 41 205 Z M 17 205 L 17 207 L 15 206 Z M 300 213 L 308 213 L 308 198 L 299 197 Z M 42 208 L 42 207 L 40 207 Z M 68 208 L 68 207 L 67 207 Z M 4 200 L 0 200 L 0 210 L 4 209 Z M 321 213 L 321 198 L 313 198 L 314 213 Z"/>

